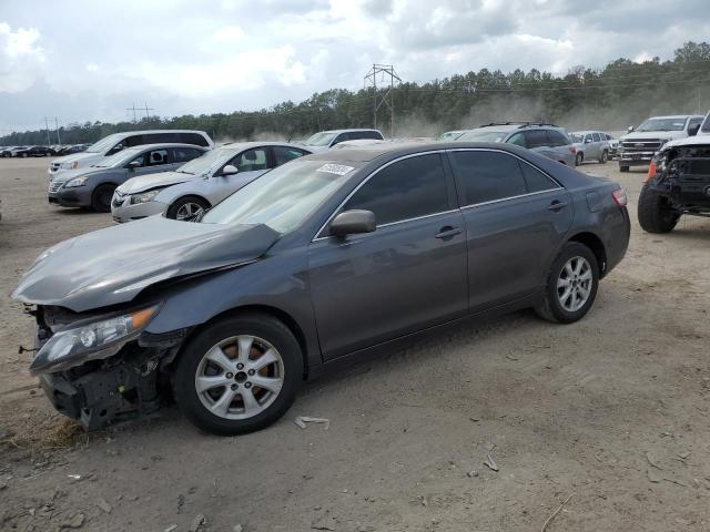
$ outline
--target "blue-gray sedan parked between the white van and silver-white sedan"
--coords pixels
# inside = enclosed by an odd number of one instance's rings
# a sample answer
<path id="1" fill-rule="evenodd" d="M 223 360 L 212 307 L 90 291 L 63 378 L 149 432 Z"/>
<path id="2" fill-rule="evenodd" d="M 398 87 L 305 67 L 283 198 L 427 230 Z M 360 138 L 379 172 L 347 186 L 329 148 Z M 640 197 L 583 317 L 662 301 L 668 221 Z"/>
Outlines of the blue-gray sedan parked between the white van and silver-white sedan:
<path id="1" fill-rule="evenodd" d="M 191 144 L 145 144 L 125 149 L 95 166 L 68 170 L 49 183 L 49 203 L 62 207 L 111 211 L 113 191 L 131 177 L 165 172 L 201 156 L 206 150 Z"/>

